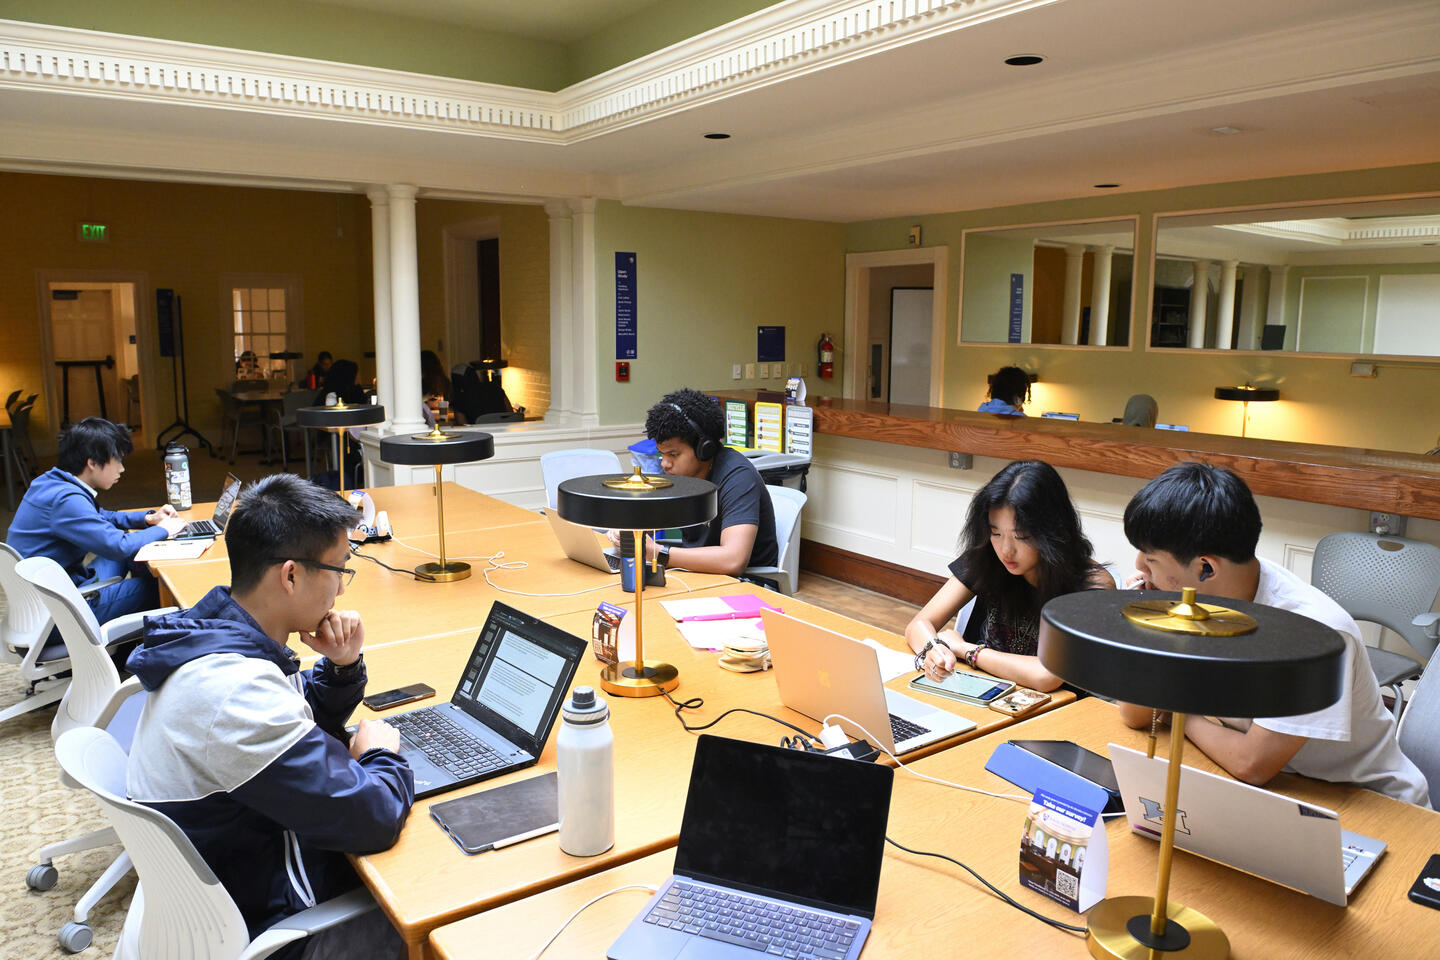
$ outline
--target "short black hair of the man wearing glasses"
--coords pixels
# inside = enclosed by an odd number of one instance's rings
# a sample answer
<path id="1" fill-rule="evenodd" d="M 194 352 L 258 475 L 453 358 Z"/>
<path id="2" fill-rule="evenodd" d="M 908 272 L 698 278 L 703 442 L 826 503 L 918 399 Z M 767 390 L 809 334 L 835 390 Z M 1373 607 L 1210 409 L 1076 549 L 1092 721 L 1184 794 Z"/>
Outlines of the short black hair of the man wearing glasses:
<path id="1" fill-rule="evenodd" d="M 360 512 L 334 491 L 294 474 L 245 486 L 225 525 L 230 589 L 255 589 L 276 557 L 318 560 L 359 520 Z"/>

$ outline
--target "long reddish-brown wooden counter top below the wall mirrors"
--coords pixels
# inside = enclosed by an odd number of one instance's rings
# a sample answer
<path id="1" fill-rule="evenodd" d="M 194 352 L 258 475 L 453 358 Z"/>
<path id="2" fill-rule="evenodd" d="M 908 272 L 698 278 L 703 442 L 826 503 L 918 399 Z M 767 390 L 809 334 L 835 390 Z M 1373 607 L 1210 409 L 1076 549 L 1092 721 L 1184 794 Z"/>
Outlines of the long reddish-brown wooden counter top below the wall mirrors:
<path id="1" fill-rule="evenodd" d="M 721 400 L 782 394 L 719 391 Z M 812 397 L 815 432 L 1001 459 L 1038 459 L 1149 479 L 1182 461 L 1227 466 L 1256 494 L 1440 520 L 1440 458 L 1117 423 L 1014 417 L 942 407 Z"/>

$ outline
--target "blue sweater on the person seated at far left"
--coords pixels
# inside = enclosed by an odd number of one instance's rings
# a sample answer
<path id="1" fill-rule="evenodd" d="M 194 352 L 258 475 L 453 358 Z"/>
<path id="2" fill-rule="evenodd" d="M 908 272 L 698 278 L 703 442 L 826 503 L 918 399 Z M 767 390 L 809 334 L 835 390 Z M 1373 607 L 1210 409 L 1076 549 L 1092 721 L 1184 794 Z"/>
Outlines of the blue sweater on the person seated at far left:
<path id="1" fill-rule="evenodd" d="M 167 535 L 164 527 L 145 522 L 143 510 L 101 510 L 73 474 L 53 466 L 24 492 L 7 543 L 22 557 L 49 557 L 79 584 L 95 576 L 85 567 L 86 554 L 128 563 L 147 543 Z"/>

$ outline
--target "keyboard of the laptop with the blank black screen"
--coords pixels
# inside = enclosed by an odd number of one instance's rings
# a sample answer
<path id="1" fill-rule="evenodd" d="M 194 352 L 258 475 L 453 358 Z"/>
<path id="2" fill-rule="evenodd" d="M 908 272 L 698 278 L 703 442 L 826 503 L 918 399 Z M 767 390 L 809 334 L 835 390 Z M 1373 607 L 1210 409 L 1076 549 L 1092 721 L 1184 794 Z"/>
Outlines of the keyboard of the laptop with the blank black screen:
<path id="1" fill-rule="evenodd" d="M 678 879 L 645 914 L 645 923 L 786 960 L 840 960 L 860 933 L 852 920 Z"/>

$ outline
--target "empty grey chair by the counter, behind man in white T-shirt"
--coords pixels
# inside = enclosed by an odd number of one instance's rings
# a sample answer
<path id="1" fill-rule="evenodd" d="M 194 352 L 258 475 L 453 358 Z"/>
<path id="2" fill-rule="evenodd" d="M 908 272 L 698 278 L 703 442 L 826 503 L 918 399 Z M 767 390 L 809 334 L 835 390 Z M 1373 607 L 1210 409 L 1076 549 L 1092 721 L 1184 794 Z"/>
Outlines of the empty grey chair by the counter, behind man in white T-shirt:
<path id="1" fill-rule="evenodd" d="M 1434 638 L 1413 620 L 1430 610 L 1440 593 L 1440 547 L 1371 533 L 1329 534 L 1315 545 L 1310 583 L 1356 620 L 1394 630 L 1424 658 L 1434 653 Z M 1405 702 L 1401 681 L 1420 676 L 1420 662 L 1374 646 L 1365 652 L 1375 681 L 1394 691 L 1400 717 Z"/>

